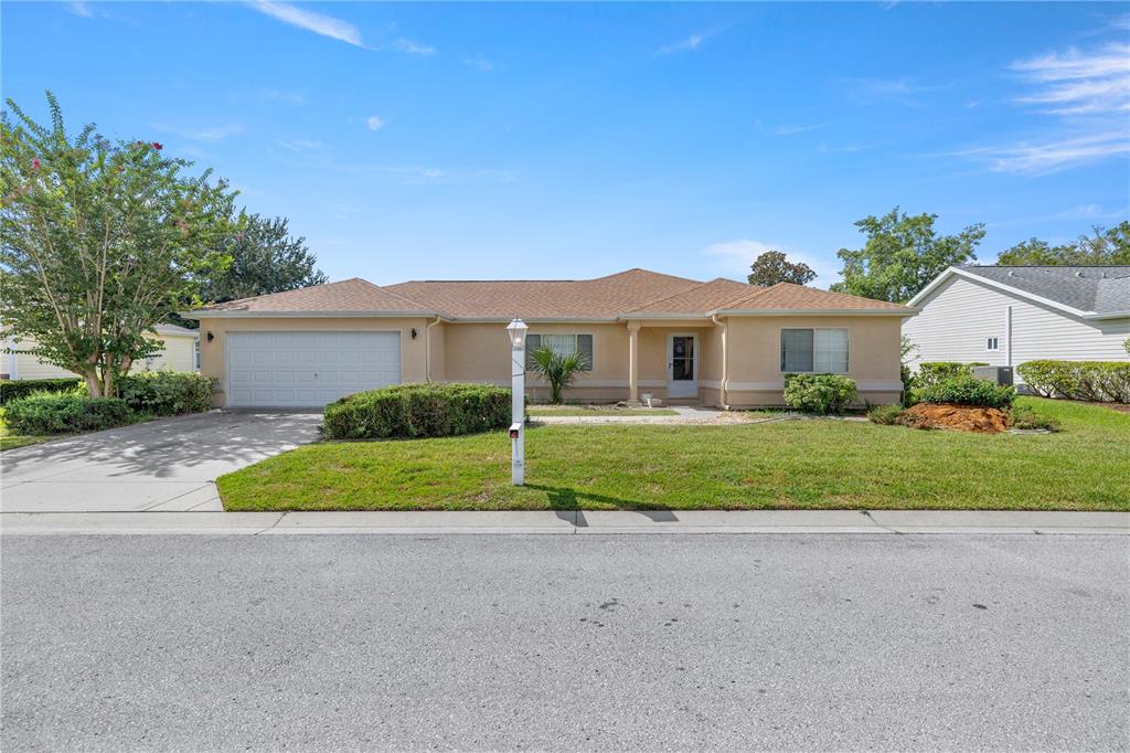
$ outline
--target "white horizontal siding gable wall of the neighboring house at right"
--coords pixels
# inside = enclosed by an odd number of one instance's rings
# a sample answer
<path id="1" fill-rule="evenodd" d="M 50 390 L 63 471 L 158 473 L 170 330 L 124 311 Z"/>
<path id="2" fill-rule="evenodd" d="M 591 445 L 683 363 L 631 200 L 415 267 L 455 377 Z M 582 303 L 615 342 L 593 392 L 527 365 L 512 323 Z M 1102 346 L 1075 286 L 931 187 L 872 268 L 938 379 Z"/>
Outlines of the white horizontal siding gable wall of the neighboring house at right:
<path id="1" fill-rule="evenodd" d="M 911 361 L 915 367 L 923 361 L 980 361 L 1008 366 L 1040 358 L 1127 361 L 1130 357 L 1122 346 L 1130 336 L 1130 318 L 1084 320 L 956 275 L 939 285 L 919 308 L 922 313 L 903 324 L 903 334 L 918 346 Z M 989 337 L 1000 338 L 999 350 L 985 350 Z"/>

